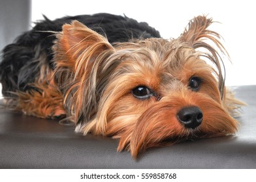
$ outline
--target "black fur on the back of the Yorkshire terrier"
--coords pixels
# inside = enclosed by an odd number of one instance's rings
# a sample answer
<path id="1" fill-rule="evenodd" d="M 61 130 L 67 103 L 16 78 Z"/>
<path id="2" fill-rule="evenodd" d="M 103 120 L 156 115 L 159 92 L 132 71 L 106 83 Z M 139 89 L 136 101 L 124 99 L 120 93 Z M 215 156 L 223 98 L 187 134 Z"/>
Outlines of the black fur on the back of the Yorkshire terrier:
<path id="1" fill-rule="evenodd" d="M 135 19 L 112 14 L 94 14 L 82 16 L 68 16 L 51 21 L 44 16 L 44 20 L 36 23 L 31 31 L 24 32 L 16 38 L 13 44 L 3 49 L 0 63 L 0 81 L 4 96 L 12 96 L 16 90 L 29 90 L 29 83 L 35 81 L 39 74 L 39 58 L 46 56 L 48 65 L 54 69 L 51 62 L 52 45 L 56 37 L 54 32 L 61 31 L 62 25 L 78 20 L 100 34 L 106 35 L 108 41 L 127 42 L 132 38 L 160 38 L 158 31 L 148 23 L 138 23 Z M 52 32 L 51 32 L 52 31 Z"/>

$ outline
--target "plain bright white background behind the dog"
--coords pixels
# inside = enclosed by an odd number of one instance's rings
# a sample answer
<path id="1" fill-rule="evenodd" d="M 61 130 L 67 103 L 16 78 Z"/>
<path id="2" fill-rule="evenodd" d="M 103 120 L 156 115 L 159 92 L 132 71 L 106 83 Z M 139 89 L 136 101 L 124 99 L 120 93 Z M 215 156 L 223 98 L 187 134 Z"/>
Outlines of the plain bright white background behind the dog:
<path id="1" fill-rule="evenodd" d="M 249 0 L 33 0 L 32 21 L 42 19 L 42 14 L 50 19 L 98 12 L 125 14 L 129 18 L 148 22 L 163 38 L 168 39 L 177 38 L 189 19 L 208 14 L 214 21 L 221 22 L 212 25 L 212 29 L 223 36 L 224 45 L 231 56 L 232 64 L 228 60 L 225 63 L 226 85 L 256 85 L 255 8 L 255 1 Z"/>

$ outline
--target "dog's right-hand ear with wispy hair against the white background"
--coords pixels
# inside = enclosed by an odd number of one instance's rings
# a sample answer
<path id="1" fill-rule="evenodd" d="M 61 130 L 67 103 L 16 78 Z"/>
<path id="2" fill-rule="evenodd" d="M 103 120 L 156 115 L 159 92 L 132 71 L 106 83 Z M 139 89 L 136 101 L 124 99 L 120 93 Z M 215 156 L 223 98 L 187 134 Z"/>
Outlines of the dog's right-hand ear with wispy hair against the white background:
<path id="1" fill-rule="evenodd" d="M 199 51 L 202 57 L 206 57 L 206 59 L 216 65 L 218 72 L 217 77 L 219 77 L 219 92 L 222 96 L 224 92 L 225 75 L 222 73 L 222 66 L 224 65 L 221 54 L 226 55 L 228 59 L 229 54 L 220 42 L 221 36 L 217 32 L 208 29 L 212 23 L 212 18 L 207 18 L 206 16 L 197 16 L 191 19 L 185 31 L 181 34 L 180 40 L 187 42 L 187 44 L 194 49 L 200 48 Z"/>

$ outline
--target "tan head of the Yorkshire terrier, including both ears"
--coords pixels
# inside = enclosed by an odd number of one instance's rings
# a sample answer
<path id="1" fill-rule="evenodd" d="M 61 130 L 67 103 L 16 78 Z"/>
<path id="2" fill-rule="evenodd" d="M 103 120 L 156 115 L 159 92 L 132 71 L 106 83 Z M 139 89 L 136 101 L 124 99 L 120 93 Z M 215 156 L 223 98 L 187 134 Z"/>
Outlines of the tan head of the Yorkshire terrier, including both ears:
<path id="1" fill-rule="evenodd" d="M 167 141 L 234 133 L 216 51 L 225 49 L 211 23 L 199 16 L 177 39 L 116 45 L 77 21 L 64 25 L 55 76 L 76 131 L 120 138 L 118 150 L 133 157 Z"/>

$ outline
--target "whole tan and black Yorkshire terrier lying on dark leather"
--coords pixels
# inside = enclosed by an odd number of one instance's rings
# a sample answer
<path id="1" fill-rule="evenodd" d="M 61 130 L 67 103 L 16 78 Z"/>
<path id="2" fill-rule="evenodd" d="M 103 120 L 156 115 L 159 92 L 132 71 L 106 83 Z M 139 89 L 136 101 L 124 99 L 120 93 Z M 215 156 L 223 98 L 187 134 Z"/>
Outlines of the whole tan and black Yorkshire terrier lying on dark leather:
<path id="1" fill-rule="evenodd" d="M 211 18 L 165 40 L 148 23 L 112 14 L 45 18 L 3 49 L 7 105 L 65 118 L 75 131 L 119 138 L 118 151 L 236 132 L 242 102 L 225 88 L 229 55 Z M 224 71 L 223 71 L 224 70 Z"/>

